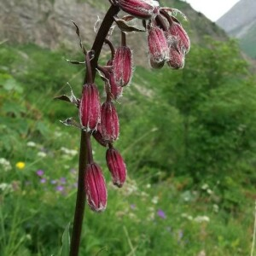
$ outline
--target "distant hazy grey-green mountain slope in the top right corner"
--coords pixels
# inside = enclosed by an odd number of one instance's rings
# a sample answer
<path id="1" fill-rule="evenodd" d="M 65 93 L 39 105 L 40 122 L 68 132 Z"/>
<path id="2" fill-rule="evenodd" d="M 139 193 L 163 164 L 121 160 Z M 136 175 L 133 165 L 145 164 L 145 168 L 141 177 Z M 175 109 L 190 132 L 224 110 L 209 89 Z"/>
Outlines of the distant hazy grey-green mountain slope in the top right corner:
<path id="1" fill-rule="evenodd" d="M 231 37 L 238 38 L 241 49 L 256 58 L 256 1 L 241 0 L 217 20 Z"/>

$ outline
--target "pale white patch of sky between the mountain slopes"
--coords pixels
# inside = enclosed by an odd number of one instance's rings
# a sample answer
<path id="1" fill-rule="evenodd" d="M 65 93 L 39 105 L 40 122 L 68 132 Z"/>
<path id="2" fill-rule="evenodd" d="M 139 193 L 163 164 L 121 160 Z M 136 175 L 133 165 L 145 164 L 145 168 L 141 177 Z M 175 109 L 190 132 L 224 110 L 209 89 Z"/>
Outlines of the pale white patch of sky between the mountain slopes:
<path id="1" fill-rule="evenodd" d="M 218 20 L 239 0 L 186 0 L 193 9 L 200 11 L 212 21 Z"/>

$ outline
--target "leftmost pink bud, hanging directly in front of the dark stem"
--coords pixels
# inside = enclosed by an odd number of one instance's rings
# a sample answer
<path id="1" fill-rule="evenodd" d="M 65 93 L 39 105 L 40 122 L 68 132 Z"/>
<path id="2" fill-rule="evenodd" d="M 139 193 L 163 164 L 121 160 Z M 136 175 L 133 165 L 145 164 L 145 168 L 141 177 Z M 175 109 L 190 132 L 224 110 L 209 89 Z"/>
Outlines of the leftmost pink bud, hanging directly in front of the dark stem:
<path id="1" fill-rule="evenodd" d="M 101 119 L 101 103 L 96 84 L 84 84 L 79 117 L 86 131 L 96 130 Z"/>

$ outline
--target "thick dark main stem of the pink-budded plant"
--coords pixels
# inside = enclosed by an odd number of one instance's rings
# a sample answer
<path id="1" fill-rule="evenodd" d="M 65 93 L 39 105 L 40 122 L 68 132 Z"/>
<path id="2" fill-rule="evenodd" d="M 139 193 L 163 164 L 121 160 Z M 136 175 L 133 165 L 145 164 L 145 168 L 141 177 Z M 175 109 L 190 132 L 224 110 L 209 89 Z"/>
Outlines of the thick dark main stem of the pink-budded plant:
<path id="1" fill-rule="evenodd" d="M 119 7 L 112 5 L 107 14 L 102 21 L 102 26 L 96 34 L 92 50 L 94 50 L 94 58 L 90 61 L 91 67 L 91 78 L 87 78 L 87 73 L 84 76 L 84 84 L 88 79 L 94 81 L 96 76 L 96 66 L 99 59 L 99 56 L 102 51 L 102 45 L 104 44 L 105 38 L 108 36 L 108 31 L 113 24 L 113 16 L 119 13 Z M 77 201 L 75 207 L 75 213 L 73 218 L 73 232 L 70 244 L 70 256 L 79 255 L 79 244 L 80 237 L 82 232 L 82 225 L 84 219 L 84 207 L 85 207 L 85 189 L 84 189 L 84 174 L 86 165 L 89 163 L 91 157 L 91 145 L 90 145 L 90 133 L 86 131 L 81 131 L 81 140 L 80 140 L 80 152 L 79 152 L 79 183 L 78 183 L 78 193 Z"/>

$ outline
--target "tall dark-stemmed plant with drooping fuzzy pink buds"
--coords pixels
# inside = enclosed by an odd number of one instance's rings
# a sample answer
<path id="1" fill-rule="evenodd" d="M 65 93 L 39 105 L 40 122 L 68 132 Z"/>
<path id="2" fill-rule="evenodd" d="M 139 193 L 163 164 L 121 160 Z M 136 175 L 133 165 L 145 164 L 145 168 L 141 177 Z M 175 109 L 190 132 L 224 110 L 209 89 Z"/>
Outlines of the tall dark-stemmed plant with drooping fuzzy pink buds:
<path id="1" fill-rule="evenodd" d="M 84 49 L 79 34 L 80 47 L 84 53 L 84 62 L 70 61 L 73 64 L 85 64 L 84 85 L 80 99 L 73 96 L 58 96 L 57 99 L 72 102 L 79 108 L 80 125 L 73 119 L 63 121 L 65 125 L 75 125 L 81 129 L 79 153 L 79 184 L 76 209 L 73 218 L 73 235 L 70 255 L 79 253 L 79 241 L 84 218 L 85 199 L 91 210 L 102 212 L 107 207 L 107 188 L 102 169 L 93 160 L 90 139 L 106 147 L 106 160 L 111 172 L 113 184 L 122 187 L 125 183 L 126 166 L 113 143 L 119 137 L 119 117 L 114 102 L 122 96 L 125 86 L 131 83 L 133 73 L 132 51 L 126 44 L 129 32 L 146 32 L 148 37 L 148 58 L 152 68 L 161 68 L 167 63 L 174 69 L 182 68 L 184 57 L 189 52 L 189 37 L 175 17 L 177 9 L 162 8 L 154 0 L 110 0 L 110 8 L 96 32 L 94 44 L 90 50 Z M 128 15 L 120 18 L 119 11 Z M 141 20 L 144 29 L 131 26 L 130 20 Z M 110 38 L 113 22 L 121 34 L 121 44 L 114 48 Z M 111 59 L 105 66 L 98 62 L 102 45 L 108 44 Z M 101 103 L 100 93 L 95 84 L 96 72 L 102 77 L 106 98 Z"/>

